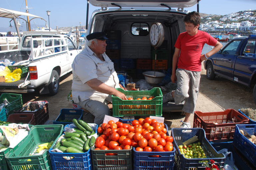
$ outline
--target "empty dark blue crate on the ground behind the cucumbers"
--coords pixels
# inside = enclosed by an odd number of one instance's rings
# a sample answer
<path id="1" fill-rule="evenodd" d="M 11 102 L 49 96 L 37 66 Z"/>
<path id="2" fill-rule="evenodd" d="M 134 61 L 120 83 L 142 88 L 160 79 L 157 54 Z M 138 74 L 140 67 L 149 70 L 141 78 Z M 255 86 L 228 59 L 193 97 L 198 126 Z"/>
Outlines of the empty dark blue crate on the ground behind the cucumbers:
<path id="1" fill-rule="evenodd" d="M 68 125 L 72 124 L 72 120 L 83 120 L 83 109 L 61 109 L 60 114 L 55 121 L 53 121 L 53 125 L 62 124 Z M 69 120 L 71 122 L 60 122 L 60 120 L 65 121 Z"/>

